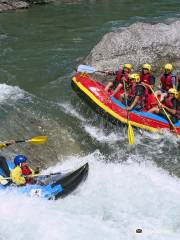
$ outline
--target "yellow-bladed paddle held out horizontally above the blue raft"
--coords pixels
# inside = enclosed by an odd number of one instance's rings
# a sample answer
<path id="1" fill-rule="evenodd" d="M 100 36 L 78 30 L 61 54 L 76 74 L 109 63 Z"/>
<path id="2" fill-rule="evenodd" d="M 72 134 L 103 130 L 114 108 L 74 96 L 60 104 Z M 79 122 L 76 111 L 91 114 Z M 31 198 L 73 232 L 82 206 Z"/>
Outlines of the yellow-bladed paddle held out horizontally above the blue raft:
<path id="1" fill-rule="evenodd" d="M 32 144 L 43 144 L 47 142 L 48 137 L 47 136 L 37 136 L 33 137 L 31 139 L 25 139 L 25 140 L 15 140 L 15 142 L 5 142 L 5 143 L 0 143 L 0 148 L 8 147 L 14 143 L 32 143 Z"/>

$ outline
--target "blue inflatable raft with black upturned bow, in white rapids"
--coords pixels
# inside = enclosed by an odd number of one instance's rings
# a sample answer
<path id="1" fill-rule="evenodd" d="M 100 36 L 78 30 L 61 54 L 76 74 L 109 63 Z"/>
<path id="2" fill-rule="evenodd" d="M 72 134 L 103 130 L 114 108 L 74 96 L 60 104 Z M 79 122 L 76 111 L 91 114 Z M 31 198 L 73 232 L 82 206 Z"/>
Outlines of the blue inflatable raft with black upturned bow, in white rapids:
<path id="1" fill-rule="evenodd" d="M 14 164 L 7 161 L 9 169 L 14 168 Z M 80 168 L 69 171 L 61 172 L 57 174 L 44 175 L 37 178 L 37 184 L 27 184 L 26 186 L 16 186 L 9 182 L 6 185 L 0 184 L 0 190 L 11 191 L 18 194 L 26 194 L 32 197 L 41 197 L 46 199 L 58 199 L 67 196 L 73 190 L 75 190 L 79 184 L 84 181 L 88 175 L 89 166 L 88 163 L 84 164 Z M 4 176 L 2 169 L 0 169 L 0 175 Z"/>

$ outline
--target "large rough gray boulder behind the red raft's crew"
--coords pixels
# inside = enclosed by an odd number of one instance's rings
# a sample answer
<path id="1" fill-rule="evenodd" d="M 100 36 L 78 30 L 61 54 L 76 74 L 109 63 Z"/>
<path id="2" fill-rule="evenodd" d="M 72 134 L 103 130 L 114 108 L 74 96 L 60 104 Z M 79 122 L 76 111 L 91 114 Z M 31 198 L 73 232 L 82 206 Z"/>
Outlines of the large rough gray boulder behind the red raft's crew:
<path id="1" fill-rule="evenodd" d="M 135 23 L 119 32 L 110 32 L 85 59 L 97 70 L 117 70 L 123 63 L 132 63 L 135 69 L 150 63 L 156 70 L 167 62 L 180 67 L 180 21 L 170 25 Z"/>

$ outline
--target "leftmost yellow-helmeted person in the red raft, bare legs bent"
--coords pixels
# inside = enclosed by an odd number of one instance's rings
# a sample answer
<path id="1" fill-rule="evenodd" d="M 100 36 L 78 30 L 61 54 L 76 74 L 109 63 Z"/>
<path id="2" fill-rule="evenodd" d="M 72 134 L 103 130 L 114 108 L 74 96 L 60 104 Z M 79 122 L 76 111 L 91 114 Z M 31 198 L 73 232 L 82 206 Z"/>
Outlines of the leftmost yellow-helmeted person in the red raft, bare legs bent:
<path id="1" fill-rule="evenodd" d="M 108 75 L 116 75 L 116 78 L 113 82 L 109 82 L 106 87 L 105 87 L 105 91 L 108 93 L 108 91 L 113 88 L 114 89 L 114 93 L 112 94 L 112 96 L 114 96 L 119 90 L 124 88 L 124 83 L 129 84 L 129 74 L 132 71 L 133 66 L 129 63 L 126 63 L 123 65 L 122 68 L 120 68 L 118 71 L 116 72 L 107 72 Z"/>

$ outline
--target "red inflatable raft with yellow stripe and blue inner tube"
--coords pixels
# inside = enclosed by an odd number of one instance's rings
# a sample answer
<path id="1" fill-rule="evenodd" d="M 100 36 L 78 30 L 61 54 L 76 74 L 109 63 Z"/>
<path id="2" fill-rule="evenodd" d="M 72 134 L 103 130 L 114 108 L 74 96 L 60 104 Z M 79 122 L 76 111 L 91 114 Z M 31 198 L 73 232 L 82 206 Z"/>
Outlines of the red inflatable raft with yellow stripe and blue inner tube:
<path id="1" fill-rule="evenodd" d="M 105 86 L 97 82 L 87 73 L 77 73 L 71 82 L 74 91 L 82 97 L 97 113 L 108 118 L 112 123 L 127 124 L 127 111 L 125 105 L 111 97 L 104 91 Z M 169 122 L 156 114 L 130 111 L 129 120 L 131 125 L 151 132 L 170 130 Z M 177 135 L 180 136 L 180 121 L 174 124 Z"/>

